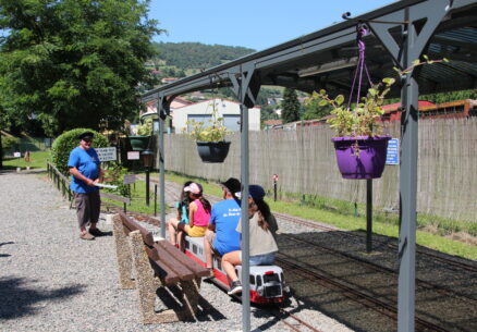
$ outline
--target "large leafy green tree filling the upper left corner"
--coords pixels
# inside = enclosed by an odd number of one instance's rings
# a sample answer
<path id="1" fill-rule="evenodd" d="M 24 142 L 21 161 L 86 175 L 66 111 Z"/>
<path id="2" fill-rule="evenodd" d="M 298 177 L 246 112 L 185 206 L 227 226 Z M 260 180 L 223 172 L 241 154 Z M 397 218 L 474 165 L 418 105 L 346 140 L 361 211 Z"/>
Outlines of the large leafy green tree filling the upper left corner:
<path id="1" fill-rule="evenodd" d="M 107 123 L 139 109 L 150 38 L 149 0 L 0 0 L 0 108 L 47 134 Z"/>

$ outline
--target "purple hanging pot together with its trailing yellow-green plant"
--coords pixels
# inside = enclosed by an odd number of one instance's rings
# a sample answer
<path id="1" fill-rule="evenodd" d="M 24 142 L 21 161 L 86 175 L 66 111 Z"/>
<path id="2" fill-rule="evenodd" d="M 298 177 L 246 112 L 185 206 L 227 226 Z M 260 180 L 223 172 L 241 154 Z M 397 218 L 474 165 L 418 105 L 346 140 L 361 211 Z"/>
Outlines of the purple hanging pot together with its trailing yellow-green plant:
<path id="1" fill-rule="evenodd" d="M 400 77 L 411 73 L 414 67 L 433 62 L 448 62 L 447 59 L 432 61 L 424 56 L 425 61 L 415 60 L 406 70 L 394 70 Z M 331 106 L 332 118 L 327 122 L 337 133 L 332 137 L 338 168 L 343 179 L 378 179 L 384 170 L 388 142 L 391 136 L 383 135 L 380 122 L 384 113 L 382 104 L 384 97 L 395 83 L 394 78 L 386 77 L 381 83 L 368 89 L 366 97 L 353 106 L 344 106 L 342 95 L 330 98 L 326 90 L 314 93 L 310 100 L 318 100 L 319 106 Z"/>

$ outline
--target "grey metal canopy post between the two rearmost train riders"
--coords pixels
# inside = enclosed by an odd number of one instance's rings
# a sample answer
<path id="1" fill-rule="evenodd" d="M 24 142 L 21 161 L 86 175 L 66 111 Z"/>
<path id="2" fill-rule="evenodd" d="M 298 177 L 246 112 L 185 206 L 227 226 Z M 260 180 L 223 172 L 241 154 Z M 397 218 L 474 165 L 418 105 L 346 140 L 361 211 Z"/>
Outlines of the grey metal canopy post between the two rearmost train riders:
<path id="1" fill-rule="evenodd" d="M 250 86 L 254 75 L 252 63 L 241 65 L 237 75 L 230 75 L 233 90 L 241 102 L 241 183 L 242 183 L 242 331 L 250 331 L 250 267 L 248 229 L 248 106 L 255 104 L 259 86 Z M 238 76 L 238 77 L 237 77 Z"/>

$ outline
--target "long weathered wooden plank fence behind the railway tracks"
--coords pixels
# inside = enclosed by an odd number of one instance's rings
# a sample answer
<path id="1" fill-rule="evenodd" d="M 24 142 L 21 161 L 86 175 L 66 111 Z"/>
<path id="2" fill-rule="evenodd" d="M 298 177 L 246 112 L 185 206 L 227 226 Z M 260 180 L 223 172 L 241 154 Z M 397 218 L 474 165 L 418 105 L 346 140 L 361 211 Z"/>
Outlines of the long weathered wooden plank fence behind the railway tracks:
<path id="1" fill-rule="evenodd" d="M 400 123 L 387 132 L 400 137 Z M 343 180 L 335 163 L 328 126 L 297 131 L 250 132 L 249 181 L 279 190 L 315 194 L 350 201 L 366 201 L 366 181 Z M 209 180 L 240 179 L 240 135 L 232 140 L 224 163 L 203 163 L 195 143 L 185 135 L 166 135 L 166 169 Z M 419 122 L 417 207 L 419 212 L 477 221 L 477 119 Z M 374 204 L 399 208 L 399 165 L 387 165 L 374 181 Z"/>

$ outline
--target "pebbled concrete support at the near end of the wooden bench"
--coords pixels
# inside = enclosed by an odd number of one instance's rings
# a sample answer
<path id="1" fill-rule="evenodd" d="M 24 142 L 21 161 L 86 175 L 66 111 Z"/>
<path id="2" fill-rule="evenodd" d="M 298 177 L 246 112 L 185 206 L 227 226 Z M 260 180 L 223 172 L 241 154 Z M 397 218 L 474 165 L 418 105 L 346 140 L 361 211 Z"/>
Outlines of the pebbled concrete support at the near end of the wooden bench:
<path id="1" fill-rule="evenodd" d="M 194 319 L 197 311 L 200 279 L 182 281 L 180 302 L 181 310 L 168 309 L 161 312 L 155 311 L 156 290 L 163 285 L 154 276 L 149 258 L 144 250 L 143 238 L 139 232 L 130 233 L 133 250 L 134 267 L 136 269 L 136 286 L 139 299 L 140 318 L 144 324 L 175 322 L 179 320 Z"/>

